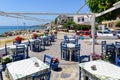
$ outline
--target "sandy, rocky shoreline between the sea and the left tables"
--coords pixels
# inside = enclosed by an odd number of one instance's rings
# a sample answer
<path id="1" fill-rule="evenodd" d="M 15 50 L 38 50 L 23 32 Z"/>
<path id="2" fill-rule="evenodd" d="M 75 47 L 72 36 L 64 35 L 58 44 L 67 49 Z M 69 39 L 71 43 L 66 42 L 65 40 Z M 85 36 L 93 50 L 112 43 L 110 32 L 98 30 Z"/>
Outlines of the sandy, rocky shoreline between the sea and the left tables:
<path id="1" fill-rule="evenodd" d="M 18 32 L 19 32 L 19 34 L 18 34 Z M 35 30 L 35 32 L 37 32 L 37 34 L 44 34 L 45 30 L 37 29 L 37 30 Z M 15 40 L 16 36 L 20 36 L 20 37 L 24 38 L 24 40 L 22 41 L 22 42 L 24 42 L 24 41 L 26 41 L 28 39 L 31 39 L 32 34 L 33 34 L 32 31 L 30 32 L 30 31 L 27 31 L 27 30 L 25 30 L 25 31 L 16 30 L 16 31 L 13 31 L 12 35 L 10 35 L 10 36 L 7 35 L 7 34 L 4 37 L 0 36 L 0 47 L 4 47 L 5 44 L 7 44 L 7 45 L 13 44 L 13 41 Z"/>

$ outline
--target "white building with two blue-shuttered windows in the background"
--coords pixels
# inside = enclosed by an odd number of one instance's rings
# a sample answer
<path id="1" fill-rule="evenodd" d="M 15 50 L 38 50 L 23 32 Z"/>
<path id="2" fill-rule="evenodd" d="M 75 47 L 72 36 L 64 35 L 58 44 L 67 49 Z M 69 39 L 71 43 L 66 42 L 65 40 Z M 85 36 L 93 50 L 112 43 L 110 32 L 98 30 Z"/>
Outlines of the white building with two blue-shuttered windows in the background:
<path id="1" fill-rule="evenodd" d="M 86 15 L 74 15 L 73 20 L 77 24 L 90 25 L 90 18 Z"/>

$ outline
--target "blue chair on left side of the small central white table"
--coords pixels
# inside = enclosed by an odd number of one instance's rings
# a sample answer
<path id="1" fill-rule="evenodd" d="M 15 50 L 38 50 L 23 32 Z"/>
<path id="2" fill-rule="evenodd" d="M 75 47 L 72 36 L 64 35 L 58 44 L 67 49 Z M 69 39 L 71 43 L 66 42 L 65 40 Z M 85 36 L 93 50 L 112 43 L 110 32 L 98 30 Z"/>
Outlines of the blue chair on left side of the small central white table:
<path id="1" fill-rule="evenodd" d="M 61 59 L 69 60 L 69 51 L 67 48 L 67 43 L 65 41 L 61 42 L 60 48 L 61 48 Z"/>

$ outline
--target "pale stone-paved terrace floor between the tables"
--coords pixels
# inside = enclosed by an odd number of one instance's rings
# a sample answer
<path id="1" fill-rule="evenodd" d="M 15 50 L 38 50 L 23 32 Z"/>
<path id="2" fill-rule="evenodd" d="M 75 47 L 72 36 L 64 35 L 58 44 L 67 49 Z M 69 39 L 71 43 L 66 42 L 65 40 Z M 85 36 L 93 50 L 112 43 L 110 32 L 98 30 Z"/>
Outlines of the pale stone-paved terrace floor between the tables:
<path id="1" fill-rule="evenodd" d="M 71 33 L 67 33 L 68 35 L 71 35 Z M 72 34 L 73 35 L 73 34 Z M 57 39 L 55 42 L 52 42 L 52 45 L 47 46 L 45 51 L 42 52 L 31 52 L 29 51 L 30 57 L 37 57 L 40 60 L 43 60 L 44 54 L 49 54 L 51 56 L 55 56 L 59 58 L 60 64 L 59 64 L 59 71 L 52 71 L 51 74 L 51 80 L 78 80 L 78 62 L 73 61 L 65 61 L 60 59 L 60 42 L 63 41 L 63 33 L 59 33 Z M 97 40 L 97 44 L 95 45 L 95 52 L 97 54 L 101 53 L 101 41 Z M 107 40 L 107 43 L 114 43 L 115 41 L 120 40 Z M 79 40 L 79 43 L 81 44 L 81 55 L 90 54 L 92 52 L 92 45 L 89 43 L 89 40 Z M 4 73 L 4 72 L 3 72 Z M 7 80 L 4 78 L 4 80 Z"/>

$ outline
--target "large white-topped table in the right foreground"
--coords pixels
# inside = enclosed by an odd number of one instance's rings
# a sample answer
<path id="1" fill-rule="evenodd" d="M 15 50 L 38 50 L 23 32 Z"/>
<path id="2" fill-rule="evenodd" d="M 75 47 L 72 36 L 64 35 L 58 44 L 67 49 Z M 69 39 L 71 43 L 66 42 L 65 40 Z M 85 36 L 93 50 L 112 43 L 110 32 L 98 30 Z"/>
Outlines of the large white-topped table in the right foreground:
<path id="1" fill-rule="evenodd" d="M 92 65 L 96 65 L 96 70 L 91 69 Z M 102 60 L 80 63 L 79 67 L 83 76 L 91 80 L 120 80 L 120 67 Z"/>

